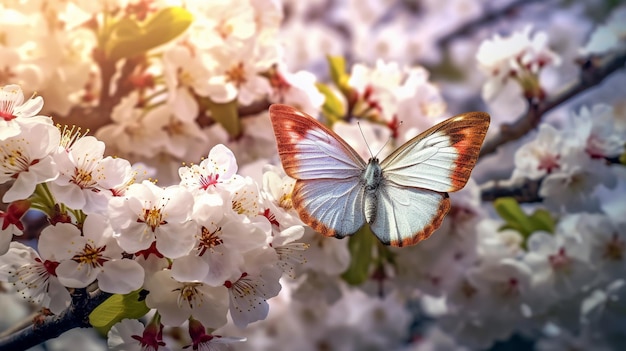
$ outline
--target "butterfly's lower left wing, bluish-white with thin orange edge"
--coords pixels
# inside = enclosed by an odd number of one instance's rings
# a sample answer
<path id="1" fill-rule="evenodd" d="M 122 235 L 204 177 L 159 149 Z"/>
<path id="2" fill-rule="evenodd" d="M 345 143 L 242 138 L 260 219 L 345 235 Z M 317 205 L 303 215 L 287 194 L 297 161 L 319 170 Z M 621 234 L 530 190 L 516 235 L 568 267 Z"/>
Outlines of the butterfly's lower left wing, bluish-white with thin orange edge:
<path id="1" fill-rule="evenodd" d="M 365 224 L 358 178 L 298 180 L 291 193 L 300 219 L 326 236 L 343 238 Z"/>

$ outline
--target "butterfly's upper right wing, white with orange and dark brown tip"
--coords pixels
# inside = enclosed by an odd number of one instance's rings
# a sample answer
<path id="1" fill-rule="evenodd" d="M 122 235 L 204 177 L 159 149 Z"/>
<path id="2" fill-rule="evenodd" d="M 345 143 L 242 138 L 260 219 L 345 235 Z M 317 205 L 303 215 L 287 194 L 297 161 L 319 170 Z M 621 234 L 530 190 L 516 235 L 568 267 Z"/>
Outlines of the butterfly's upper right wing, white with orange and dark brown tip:
<path id="1" fill-rule="evenodd" d="M 462 189 L 478 159 L 489 120 L 486 113 L 469 112 L 424 131 L 381 162 L 385 179 L 437 192 Z"/>

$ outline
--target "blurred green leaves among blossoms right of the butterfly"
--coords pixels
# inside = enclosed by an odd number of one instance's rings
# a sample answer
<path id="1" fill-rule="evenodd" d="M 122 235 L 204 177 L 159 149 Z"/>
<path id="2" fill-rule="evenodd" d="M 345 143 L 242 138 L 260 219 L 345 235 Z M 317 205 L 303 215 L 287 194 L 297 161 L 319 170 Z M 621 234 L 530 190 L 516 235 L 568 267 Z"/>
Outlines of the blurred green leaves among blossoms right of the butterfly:
<path id="1" fill-rule="evenodd" d="M 536 231 L 554 233 L 556 221 L 546 210 L 538 209 L 530 216 L 527 215 L 519 203 L 511 197 L 499 198 L 493 203 L 496 212 L 504 219 L 505 224 L 500 230 L 513 229 L 526 239 Z"/>

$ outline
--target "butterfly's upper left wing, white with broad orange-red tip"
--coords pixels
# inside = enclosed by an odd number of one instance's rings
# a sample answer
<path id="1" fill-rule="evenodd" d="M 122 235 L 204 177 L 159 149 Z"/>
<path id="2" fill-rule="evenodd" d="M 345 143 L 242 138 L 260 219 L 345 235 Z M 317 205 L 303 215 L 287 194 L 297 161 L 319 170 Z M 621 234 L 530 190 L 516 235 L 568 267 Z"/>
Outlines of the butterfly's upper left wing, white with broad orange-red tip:
<path id="1" fill-rule="evenodd" d="M 286 105 L 270 106 L 278 154 L 295 179 L 345 179 L 359 176 L 365 162 L 332 130 Z"/>

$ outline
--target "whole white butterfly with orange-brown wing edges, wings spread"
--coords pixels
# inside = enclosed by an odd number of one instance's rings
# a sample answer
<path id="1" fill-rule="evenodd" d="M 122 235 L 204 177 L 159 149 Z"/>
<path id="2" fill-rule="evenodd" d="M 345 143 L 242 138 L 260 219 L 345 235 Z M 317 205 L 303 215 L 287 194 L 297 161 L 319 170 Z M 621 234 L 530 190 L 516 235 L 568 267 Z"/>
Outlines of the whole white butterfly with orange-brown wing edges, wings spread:
<path id="1" fill-rule="evenodd" d="M 365 223 L 385 245 L 428 238 L 450 210 L 448 192 L 465 186 L 489 115 L 464 113 L 406 142 L 382 162 L 366 163 L 339 135 L 304 112 L 270 106 L 278 154 L 296 179 L 291 199 L 315 231 L 344 238 Z"/>

